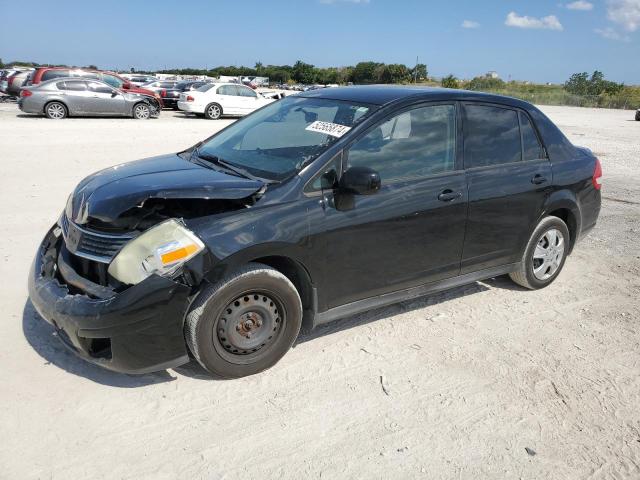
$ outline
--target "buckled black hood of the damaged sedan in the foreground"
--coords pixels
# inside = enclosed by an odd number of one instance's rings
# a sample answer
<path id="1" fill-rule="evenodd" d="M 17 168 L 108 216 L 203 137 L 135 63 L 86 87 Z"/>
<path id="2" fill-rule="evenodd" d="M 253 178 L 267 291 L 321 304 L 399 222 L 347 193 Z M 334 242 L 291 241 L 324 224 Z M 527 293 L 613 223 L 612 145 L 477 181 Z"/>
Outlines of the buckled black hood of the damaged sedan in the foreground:
<path id="1" fill-rule="evenodd" d="M 123 163 L 94 173 L 78 184 L 67 204 L 75 223 L 90 219 L 115 223 L 123 213 L 149 199 L 220 199 L 249 197 L 263 183 L 165 155 Z"/>

